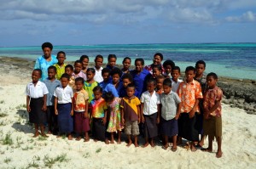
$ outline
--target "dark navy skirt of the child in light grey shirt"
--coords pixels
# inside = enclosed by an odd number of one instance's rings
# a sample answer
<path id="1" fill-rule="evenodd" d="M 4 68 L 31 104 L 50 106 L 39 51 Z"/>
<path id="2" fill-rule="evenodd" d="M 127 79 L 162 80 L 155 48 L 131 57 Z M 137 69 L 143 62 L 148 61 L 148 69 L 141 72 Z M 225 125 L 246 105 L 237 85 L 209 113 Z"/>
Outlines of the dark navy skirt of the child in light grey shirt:
<path id="1" fill-rule="evenodd" d="M 160 124 L 160 133 L 162 135 L 166 135 L 168 137 L 177 135 L 178 127 L 177 120 L 175 118 L 169 121 L 166 121 L 165 119 L 161 118 Z"/>

